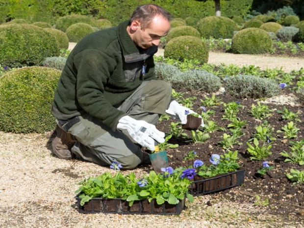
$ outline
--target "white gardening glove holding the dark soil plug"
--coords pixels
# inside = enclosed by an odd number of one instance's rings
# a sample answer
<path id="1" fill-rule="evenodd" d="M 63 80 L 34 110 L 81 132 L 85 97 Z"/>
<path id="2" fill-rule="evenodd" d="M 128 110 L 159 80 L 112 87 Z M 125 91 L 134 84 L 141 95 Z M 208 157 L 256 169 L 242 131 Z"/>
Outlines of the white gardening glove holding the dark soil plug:
<path id="1" fill-rule="evenodd" d="M 187 123 L 187 115 L 195 112 L 187 107 L 180 105 L 177 103 L 177 101 L 172 101 L 169 105 L 169 108 L 166 110 L 166 113 L 171 115 L 174 119 L 180 121 L 182 125 L 185 125 Z M 199 118 L 202 118 L 202 116 L 199 115 Z M 204 127 L 203 119 L 201 126 Z"/>

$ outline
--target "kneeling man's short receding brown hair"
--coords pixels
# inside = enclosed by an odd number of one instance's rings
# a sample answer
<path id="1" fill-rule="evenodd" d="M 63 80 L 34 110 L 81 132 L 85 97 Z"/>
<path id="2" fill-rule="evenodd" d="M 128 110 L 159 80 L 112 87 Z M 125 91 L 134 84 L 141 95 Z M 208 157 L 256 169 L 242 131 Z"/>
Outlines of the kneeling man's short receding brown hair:
<path id="1" fill-rule="evenodd" d="M 159 5 L 145 4 L 138 6 L 133 11 L 133 14 L 131 16 L 131 22 L 134 20 L 138 20 L 141 23 L 141 28 L 145 29 L 151 24 L 152 19 L 157 15 L 163 16 L 169 22 L 171 20 L 171 14 Z"/>

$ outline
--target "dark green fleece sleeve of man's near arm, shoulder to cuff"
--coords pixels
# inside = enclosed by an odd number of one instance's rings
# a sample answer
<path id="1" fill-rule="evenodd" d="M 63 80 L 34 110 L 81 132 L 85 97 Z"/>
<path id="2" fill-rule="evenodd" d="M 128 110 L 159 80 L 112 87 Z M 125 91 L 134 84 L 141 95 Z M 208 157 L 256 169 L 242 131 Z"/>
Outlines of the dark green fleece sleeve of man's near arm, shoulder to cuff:
<path id="1" fill-rule="evenodd" d="M 116 67 L 116 61 L 105 53 L 87 49 L 74 56 L 77 69 L 76 97 L 79 105 L 91 116 L 113 129 L 126 115 L 113 107 L 104 96 L 104 86 Z"/>

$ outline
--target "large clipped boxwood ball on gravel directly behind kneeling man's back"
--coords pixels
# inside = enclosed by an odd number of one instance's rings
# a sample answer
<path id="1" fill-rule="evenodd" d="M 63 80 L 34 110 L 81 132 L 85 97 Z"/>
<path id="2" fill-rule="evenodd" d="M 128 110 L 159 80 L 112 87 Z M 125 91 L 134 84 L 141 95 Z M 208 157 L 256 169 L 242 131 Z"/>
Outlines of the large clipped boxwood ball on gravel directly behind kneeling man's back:
<path id="1" fill-rule="evenodd" d="M 43 133 L 55 128 L 51 113 L 54 90 L 61 71 L 24 67 L 0 77 L 0 130 Z"/>

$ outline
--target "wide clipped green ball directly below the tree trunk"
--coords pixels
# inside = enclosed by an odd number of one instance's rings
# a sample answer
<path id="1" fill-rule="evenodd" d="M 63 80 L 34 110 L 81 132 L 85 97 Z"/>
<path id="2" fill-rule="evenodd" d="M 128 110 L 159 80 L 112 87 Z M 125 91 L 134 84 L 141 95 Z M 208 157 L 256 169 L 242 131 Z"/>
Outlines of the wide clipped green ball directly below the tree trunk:
<path id="1" fill-rule="evenodd" d="M 197 23 L 197 29 L 204 38 L 232 38 L 233 31 L 237 25 L 234 21 L 227 17 L 210 16 L 201 19 Z"/>

